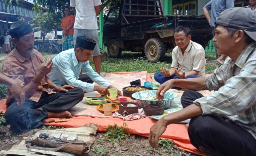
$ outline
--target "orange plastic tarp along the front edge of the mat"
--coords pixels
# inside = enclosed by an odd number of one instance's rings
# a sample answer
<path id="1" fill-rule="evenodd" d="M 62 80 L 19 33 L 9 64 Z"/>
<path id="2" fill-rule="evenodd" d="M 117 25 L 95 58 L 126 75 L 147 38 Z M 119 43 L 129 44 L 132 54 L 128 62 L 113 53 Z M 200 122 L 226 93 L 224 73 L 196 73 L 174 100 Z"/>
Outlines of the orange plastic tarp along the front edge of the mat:
<path id="1" fill-rule="evenodd" d="M 148 117 L 140 120 L 133 121 L 123 121 L 119 118 L 99 118 L 99 117 L 87 117 L 87 116 L 78 116 L 73 117 L 74 120 L 67 122 L 52 122 L 46 125 L 58 126 L 58 127 L 80 127 L 85 124 L 93 123 L 99 126 L 98 131 L 106 131 L 108 125 L 117 124 L 122 126 L 123 122 L 127 124 L 127 127 L 132 134 L 148 137 L 150 128 L 154 125 L 156 120 L 152 120 Z M 185 124 L 171 124 L 167 126 L 166 131 L 161 136 L 162 138 L 169 138 L 174 140 L 174 143 L 192 153 L 200 154 L 199 151 L 190 143 L 188 132 Z M 202 154 L 200 154 L 202 155 Z"/>

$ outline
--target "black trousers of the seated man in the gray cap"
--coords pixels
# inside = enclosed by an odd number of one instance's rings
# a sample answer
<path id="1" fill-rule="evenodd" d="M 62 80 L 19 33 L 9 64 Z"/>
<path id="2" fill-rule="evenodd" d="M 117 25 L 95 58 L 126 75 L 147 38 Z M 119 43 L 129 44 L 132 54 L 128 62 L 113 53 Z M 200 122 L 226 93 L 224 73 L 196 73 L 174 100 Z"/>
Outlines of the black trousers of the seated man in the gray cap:
<path id="1" fill-rule="evenodd" d="M 185 108 L 198 98 L 203 97 L 196 91 L 186 91 L 181 97 Z M 189 122 L 190 142 L 199 149 L 225 156 L 255 156 L 256 139 L 241 126 L 225 117 L 200 115 Z"/>

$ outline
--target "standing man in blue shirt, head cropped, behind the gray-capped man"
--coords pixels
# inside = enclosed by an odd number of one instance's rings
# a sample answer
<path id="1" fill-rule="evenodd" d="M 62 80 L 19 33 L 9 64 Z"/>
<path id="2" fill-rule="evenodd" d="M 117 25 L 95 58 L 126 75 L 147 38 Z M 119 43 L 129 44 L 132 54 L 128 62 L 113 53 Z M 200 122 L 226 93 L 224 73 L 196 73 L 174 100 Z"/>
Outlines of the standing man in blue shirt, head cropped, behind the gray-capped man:
<path id="1" fill-rule="evenodd" d="M 234 7 L 234 0 L 211 0 L 204 7 L 204 15 L 207 18 L 209 25 L 212 27 L 212 35 L 215 36 L 214 27 L 216 19 L 219 17 L 220 13 L 226 9 Z M 209 14 L 211 10 L 211 15 Z M 219 55 L 217 50 L 215 50 L 216 63 L 222 65 L 225 61 L 227 55 Z"/>

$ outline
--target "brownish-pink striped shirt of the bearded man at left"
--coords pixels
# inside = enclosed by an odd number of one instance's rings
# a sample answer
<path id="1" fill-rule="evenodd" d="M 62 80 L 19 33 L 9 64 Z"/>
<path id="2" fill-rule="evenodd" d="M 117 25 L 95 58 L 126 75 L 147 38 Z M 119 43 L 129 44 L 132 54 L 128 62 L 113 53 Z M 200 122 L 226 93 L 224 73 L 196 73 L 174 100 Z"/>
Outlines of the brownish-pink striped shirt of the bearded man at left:
<path id="1" fill-rule="evenodd" d="M 32 79 L 36 76 L 36 73 L 40 69 L 40 64 L 44 63 L 42 54 L 34 49 L 31 56 L 31 60 L 24 58 L 18 53 L 18 51 L 13 49 L 9 55 L 5 58 L 2 73 L 19 82 L 19 84 L 24 87 L 29 84 Z M 29 99 L 38 102 L 42 92 L 47 92 L 49 94 L 55 93 L 49 91 L 49 85 L 45 82 L 45 76 L 41 80 L 41 84 L 38 86 L 36 92 Z M 13 98 L 10 88 L 7 90 L 7 104 L 10 99 Z"/>

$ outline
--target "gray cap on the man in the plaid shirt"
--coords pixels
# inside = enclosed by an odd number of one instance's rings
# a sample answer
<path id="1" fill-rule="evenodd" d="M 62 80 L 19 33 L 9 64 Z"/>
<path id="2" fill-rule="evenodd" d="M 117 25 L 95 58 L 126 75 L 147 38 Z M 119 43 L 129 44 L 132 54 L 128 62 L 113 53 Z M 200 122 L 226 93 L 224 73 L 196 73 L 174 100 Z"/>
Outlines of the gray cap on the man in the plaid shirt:
<path id="1" fill-rule="evenodd" d="M 256 11 L 242 7 L 224 10 L 217 18 L 216 25 L 241 29 L 256 41 Z"/>

